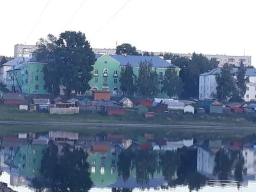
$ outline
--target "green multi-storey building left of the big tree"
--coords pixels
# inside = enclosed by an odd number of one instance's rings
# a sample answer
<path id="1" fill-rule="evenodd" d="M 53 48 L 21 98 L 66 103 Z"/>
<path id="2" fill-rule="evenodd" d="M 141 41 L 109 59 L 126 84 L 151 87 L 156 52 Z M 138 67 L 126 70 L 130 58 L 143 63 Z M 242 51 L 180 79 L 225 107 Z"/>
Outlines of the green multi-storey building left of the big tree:
<path id="1" fill-rule="evenodd" d="M 44 81 L 44 65 L 31 58 L 29 61 L 15 65 L 6 72 L 6 88 L 15 92 L 48 94 Z"/>

